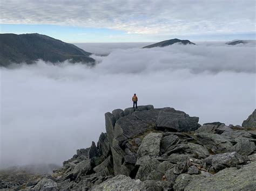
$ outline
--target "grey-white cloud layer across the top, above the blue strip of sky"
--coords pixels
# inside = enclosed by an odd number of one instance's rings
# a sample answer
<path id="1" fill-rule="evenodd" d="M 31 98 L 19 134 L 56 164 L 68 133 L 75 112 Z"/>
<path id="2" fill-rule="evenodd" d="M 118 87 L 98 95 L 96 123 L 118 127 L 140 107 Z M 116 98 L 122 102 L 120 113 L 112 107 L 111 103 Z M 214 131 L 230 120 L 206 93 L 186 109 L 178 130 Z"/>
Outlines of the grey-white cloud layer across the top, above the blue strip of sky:
<path id="1" fill-rule="evenodd" d="M 107 28 L 136 34 L 255 32 L 255 1 L 2 0 L 1 23 Z"/>

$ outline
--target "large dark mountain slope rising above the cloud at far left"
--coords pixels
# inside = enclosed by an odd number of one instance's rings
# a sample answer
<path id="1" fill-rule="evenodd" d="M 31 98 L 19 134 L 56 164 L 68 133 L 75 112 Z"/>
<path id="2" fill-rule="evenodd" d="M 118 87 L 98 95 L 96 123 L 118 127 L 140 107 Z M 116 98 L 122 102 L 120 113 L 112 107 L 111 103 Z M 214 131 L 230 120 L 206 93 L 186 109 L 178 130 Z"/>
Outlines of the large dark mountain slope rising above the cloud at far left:
<path id="1" fill-rule="evenodd" d="M 75 45 L 42 34 L 0 34 L 0 66 L 33 63 L 38 59 L 52 63 L 71 60 L 94 65 L 91 53 Z"/>

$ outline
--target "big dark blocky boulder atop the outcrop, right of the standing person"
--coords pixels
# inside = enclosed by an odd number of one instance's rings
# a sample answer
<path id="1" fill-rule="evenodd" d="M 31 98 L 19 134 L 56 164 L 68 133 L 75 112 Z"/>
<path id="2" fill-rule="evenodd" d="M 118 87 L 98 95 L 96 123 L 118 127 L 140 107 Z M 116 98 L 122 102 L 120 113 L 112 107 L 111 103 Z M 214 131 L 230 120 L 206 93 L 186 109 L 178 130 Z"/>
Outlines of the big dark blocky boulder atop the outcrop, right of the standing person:
<path id="1" fill-rule="evenodd" d="M 163 108 L 157 118 L 157 127 L 172 131 L 194 131 L 199 128 L 198 117 L 190 117 L 183 111 Z"/>

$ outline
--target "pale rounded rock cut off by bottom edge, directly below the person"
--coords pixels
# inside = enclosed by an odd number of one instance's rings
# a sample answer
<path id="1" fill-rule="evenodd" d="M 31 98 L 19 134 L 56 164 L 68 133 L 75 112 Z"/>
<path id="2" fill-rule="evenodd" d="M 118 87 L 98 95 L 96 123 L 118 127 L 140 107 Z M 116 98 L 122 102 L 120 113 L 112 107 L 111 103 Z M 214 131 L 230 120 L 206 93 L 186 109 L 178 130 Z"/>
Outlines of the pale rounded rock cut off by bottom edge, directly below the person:
<path id="1" fill-rule="evenodd" d="M 114 176 L 112 179 L 108 179 L 100 185 L 96 185 L 92 187 L 92 191 L 98 190 L 142 190 L 143 189 L 143 182 L 140 180 L 134 180 L 130 177 L 125 175 L 117 175 Z"/>

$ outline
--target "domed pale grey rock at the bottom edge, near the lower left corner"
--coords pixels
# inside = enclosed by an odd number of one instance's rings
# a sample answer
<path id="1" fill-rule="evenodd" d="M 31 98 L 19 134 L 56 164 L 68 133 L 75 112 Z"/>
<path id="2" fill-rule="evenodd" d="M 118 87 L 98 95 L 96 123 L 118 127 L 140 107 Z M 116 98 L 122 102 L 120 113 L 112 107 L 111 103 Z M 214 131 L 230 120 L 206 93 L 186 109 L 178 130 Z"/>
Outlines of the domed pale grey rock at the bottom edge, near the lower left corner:
<path id="1" fill-rule="evenodd" d="M 37 183 L 33 189 L 42 191 L 57 191 L 57 183 L 55 182 L 54 178 L 52 178 L 52 176 L 46 175 Z"/>

